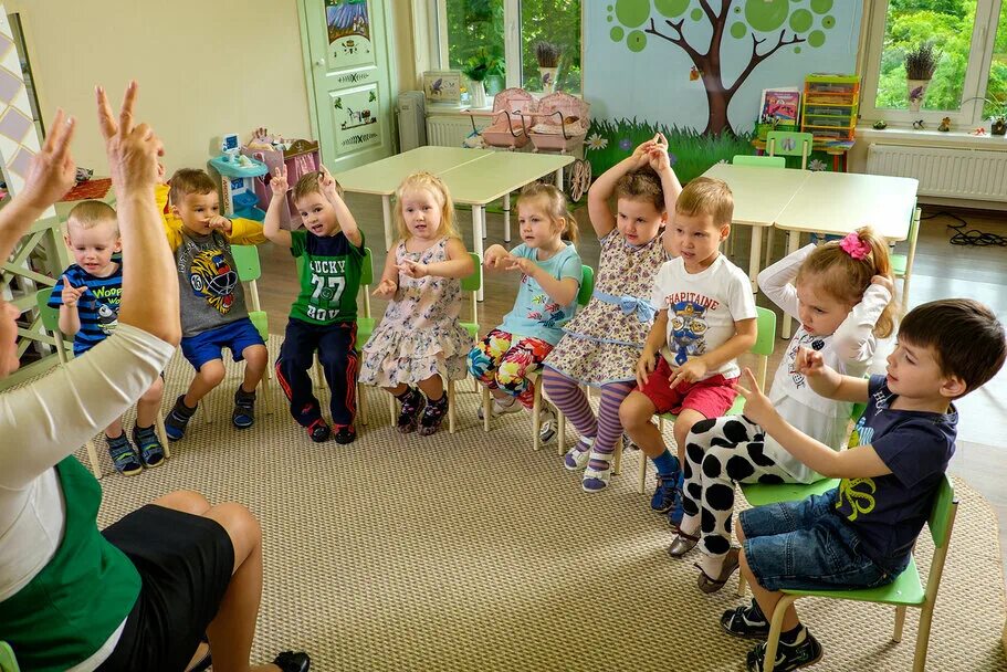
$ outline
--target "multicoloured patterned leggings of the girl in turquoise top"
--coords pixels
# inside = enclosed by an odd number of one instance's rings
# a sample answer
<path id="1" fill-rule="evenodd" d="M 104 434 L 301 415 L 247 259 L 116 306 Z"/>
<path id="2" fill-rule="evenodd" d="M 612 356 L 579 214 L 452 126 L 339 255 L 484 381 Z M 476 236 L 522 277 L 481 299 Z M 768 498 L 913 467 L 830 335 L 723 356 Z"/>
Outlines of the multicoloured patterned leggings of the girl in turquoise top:
<path id="1" fill-rule="evenodd" d="M 542 360 L 553 351 L 553 345 L 542 338 L 522 338 L 493 329 L 469 350 L 469 372 L 491 390 L 502 390 L 517 397 L 521 405 L 532 408 L 535 386 L 528 378 L 542 368 Z"/>

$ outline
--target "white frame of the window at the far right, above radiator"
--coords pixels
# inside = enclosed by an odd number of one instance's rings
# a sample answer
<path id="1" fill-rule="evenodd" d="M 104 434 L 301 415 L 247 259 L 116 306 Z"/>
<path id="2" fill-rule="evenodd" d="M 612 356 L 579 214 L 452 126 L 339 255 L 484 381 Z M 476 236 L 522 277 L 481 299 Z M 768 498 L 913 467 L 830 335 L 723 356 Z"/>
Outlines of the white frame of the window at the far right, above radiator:
<path id="1" fill-rule="evenodd" d="M 993 61 L 993 46 L 996 40 L 996 22 L 999 17 L 1001 0 L 977 0 L 975 25 L 972 33 L 972 50 L 968 53 L 968 69 L 962 86 L 962 108 L 953 109 L 891 109 L 875 107 L 878 83 L 881 78 L 881 51 L 884 48 L 884 28 L 888 19 L 889 0 L 877 0 L 867 3 L 870 21 L 867 34 L 867 57 L 864 59 L 863 86 L 860 96 L 860 116 L 866 123 L 884 119 L 889 123 L 910 126 L 916 119 L 923 119 L 935 127 L 944 117 L 951 117 L 958 128 L 982 126 L 983 97 L 989 81 L 989 66 Z M 972 98 L 972 99 L 969 99 Z"/>

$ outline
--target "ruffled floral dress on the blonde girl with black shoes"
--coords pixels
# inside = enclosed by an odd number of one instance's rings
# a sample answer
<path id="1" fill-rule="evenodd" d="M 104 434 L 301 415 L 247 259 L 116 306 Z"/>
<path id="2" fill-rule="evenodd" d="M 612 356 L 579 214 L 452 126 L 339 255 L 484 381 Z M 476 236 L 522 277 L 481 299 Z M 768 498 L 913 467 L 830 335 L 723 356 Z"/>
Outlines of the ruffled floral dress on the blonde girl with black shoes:
<path id="1" fill-rule="evenodd" d="M 406 241 L 395 249 L 395 261 L 421 264 L 448 261 L 448 239 L 422 252 L 407 252 Z M 394 387 L 419 382 L 440 374 L 445 380 L 465 377 L 472 338 L 458 323 L 462 286 L 453 277 L 409 277 L 399 273 L 399 288 L 364 346 L 360 382 Z"/>

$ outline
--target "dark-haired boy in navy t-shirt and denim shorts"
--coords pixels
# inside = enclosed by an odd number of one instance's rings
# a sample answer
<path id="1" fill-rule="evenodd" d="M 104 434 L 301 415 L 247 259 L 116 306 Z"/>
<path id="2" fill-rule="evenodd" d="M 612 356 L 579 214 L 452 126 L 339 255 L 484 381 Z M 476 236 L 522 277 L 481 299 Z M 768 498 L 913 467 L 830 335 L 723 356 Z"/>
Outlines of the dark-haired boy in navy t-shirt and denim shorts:
<path id="1" fill-rule="evenodd" d="M 967 344 L 967 345 L 964 345 Z M 850 590 L 890 584 L 909 564 L 955 450 L 958 413 L 952 403 L 989 380 L 1007 356 L 1004 327 L 989 308 L 965 298 L 911 311 L 888 357 L 887 376 L 841 376 L 821 355 L 801 348 L 797 370 L 822 397 L 867 403 L 850 438 L 835 452 L 785 422 L 746 370 L 745 416 L 780 445 L 840 485 L 801 502 L 742 513 L 738 563 L 755 596 L 724 612 L 730 634 L 764 638 L 780 590 Z M 737 554 L 737 550 L 732 550 Z M 748 652 L 763 670 L 766 644 Z M 821 658 L 821 645 L 790 606 L 783 619 L 774 670 Z"/>

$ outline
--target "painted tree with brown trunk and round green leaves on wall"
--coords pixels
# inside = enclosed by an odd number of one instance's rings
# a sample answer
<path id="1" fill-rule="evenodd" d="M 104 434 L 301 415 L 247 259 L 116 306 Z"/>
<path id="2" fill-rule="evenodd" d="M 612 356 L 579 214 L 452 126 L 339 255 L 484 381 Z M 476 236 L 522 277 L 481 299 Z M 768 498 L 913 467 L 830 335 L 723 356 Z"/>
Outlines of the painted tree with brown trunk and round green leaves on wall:
<path id="1" fill-rule="evenodd" d="M 703 80 L 710 109 L 702 135 L 734 134 L 727 107 L 742 84 L 761 63 L 777 53 L 800 53 L 801 44 L 819 48 L 836 27 L 829 14 L 833 0 L 615 0 L 608 6 L 613 42 L 626 42 L 631 52 L 647 48 L 649 35 L 685 52 L 693 73 Z M 714 6 L 720 4 L 720 9 Z M 691 23 L 689 23 L 691 22 Z M 712 29 L 709 42 L 696 45 L 686 33 Z M 776 31 L 779 31 L 778 33 Z M 690 35 L 692 36 L 692 35 Z M 727 40 L 752 41 L 747 65 L 727 86 L 722 75 L 721 49 Z"/>

